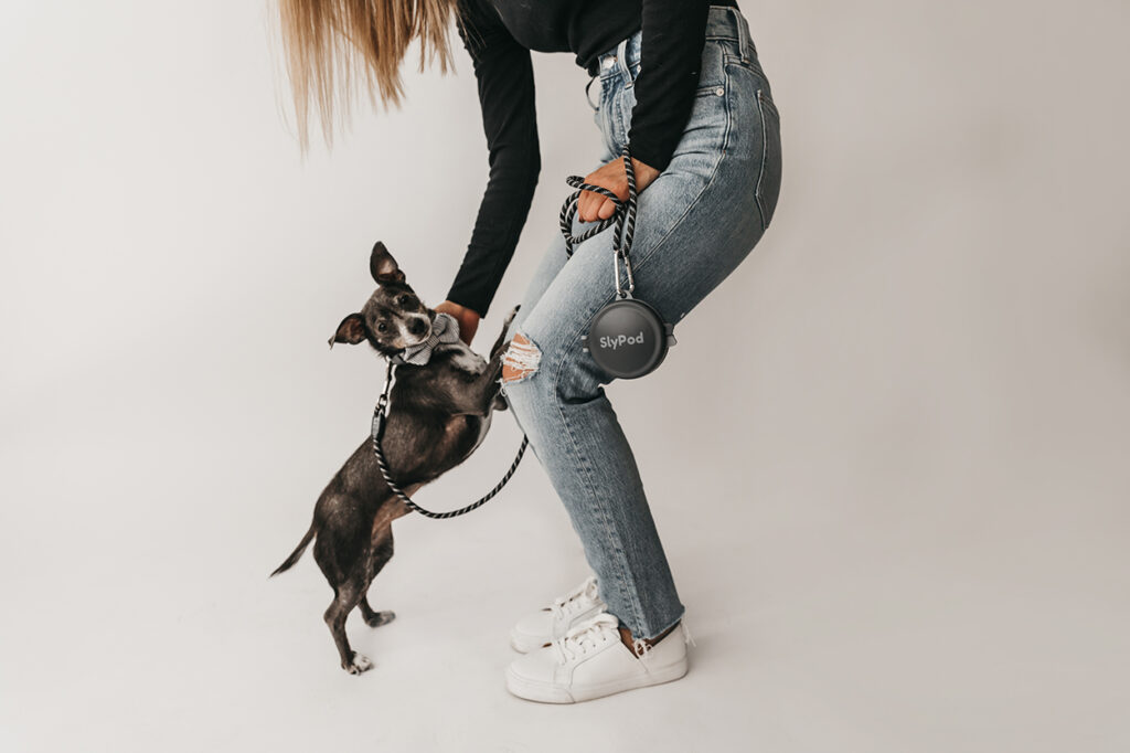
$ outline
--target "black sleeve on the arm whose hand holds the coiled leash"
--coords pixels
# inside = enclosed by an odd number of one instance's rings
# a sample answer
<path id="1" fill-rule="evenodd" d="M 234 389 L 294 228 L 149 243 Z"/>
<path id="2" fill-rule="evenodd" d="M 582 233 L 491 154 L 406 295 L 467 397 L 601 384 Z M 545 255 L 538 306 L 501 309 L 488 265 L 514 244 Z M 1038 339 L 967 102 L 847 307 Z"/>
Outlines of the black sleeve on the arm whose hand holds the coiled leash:
<path id="1" fill-rule="evenodd" d="M 666 170 L 698 88 L 709 0 L 643 0 L 640 75 L 628 142 L 632 156 Z"/>

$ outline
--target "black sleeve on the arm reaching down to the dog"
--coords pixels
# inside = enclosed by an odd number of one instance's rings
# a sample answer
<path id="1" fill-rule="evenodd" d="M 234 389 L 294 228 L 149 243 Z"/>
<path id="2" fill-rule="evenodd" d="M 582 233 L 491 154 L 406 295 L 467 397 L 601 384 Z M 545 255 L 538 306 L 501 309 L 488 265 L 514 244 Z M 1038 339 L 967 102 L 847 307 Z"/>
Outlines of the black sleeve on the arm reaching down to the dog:
<path id="1" fill-rule="evenodd" d="M 458 9 L 459 35 L 478 80 L 490 176 L 447 300 L 485 317 L 514 256 L 541 170 L 533 67 L 530 51 L 514 41 L 493 8 L 460 0 Z"/>

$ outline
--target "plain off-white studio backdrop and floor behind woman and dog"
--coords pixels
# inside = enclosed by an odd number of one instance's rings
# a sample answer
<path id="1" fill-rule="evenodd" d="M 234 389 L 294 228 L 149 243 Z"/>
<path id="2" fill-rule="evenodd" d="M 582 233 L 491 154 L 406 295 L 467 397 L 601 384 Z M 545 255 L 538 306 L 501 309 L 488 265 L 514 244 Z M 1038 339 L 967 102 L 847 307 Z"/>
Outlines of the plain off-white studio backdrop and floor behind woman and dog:
<path id="1" fill-rule="evenodd" d="M 609 395 L 697 646 L 681 682 L 510 696 L 585 574 L 536 460 L 397 523 L 338 668 L 310 554 L 381 363 L 327 349 L 383 240 L 446 292 L 486 181 L 470 61 L 303 161 L 260 2 L 0 9 L 0 748 L 1125 751 L 1124 2 L 744 0 L 783 119 L 749 260 Z M 275 40 L 272 42 L 272 40 Z M 536 55 L 544 171 L 485 347 L 599 154 Z M 436 507 L 494 483 L 501 416 Z"/>

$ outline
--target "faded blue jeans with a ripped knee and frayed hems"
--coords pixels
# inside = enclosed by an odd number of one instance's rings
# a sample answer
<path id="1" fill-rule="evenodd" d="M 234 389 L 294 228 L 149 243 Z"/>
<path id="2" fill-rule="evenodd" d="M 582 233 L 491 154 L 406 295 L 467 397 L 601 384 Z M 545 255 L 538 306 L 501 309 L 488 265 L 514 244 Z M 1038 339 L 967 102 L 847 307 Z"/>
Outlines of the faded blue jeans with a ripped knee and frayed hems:
<path id="1" fill-rule="evenodd" d="M 640 45 L 636 33 L 601 55 L 597 166 L 618 158 L 627 139 Z M 712 7 L 683 139 L 640 193 L 631 254 L 636 297 L 664 321 L 680 321 L 762 237 L 780 185 L 780 121 L 749 27 L 738 9 Z M 590 226 L 575 220 L 574 234 Z M 605 396 L 612 378 L 581 346 L 593 314 L 616 296 L 612 233 L 581 243 L 572 259 L 555 234 L 511 326 L 510 335 L 529 345 L 507 353 L 521 371 L 504 378 L 503 391 L 568 511 L 609 612 L 634 638 L 649 639 L 677 623 L 684 606 L 632 448 Z"/>

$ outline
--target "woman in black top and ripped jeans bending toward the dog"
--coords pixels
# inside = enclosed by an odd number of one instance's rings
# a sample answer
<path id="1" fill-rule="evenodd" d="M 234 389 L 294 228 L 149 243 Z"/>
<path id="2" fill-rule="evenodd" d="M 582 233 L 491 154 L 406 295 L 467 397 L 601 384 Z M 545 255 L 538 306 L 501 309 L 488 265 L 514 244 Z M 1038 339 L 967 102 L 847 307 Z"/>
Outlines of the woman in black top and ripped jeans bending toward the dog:
<path id="1" fill-rule="evenodd" d="M 635 287 L 678 322 L 746 258 L 768 226 L 781 181 L 780 121 L 733 0 L 282 0 L 299 124 L 315 102 L 331 123 L 334 68 L 359 55 L 367 80 L 398 102 L 412 38 L 445 69 L 450 17 L 470 52 L 490 178 L 463 263 L 437 306 L 470 341 L 525 223 L 540 167 L 530 51 L 572 52 L 599 80 L 603 154 L 585 178 L 627 198 L 621 149 L 638 190 Z M 341 40 L 348 38 L 349 44 Z M 347 61 L 348 61 L 347 60 Z M 345 68 L 348 71 L 348 67 Z M 345 83 L 346 88 L 348 81 Z M 305 130 L 302 131 L 305 138 Z M 585 191 L 577 217 L 612 216 Z M 574 230 L 583 230 L 575 225 Z M 570 258 L 559 233 L 512 324 L 503 391 L 565 504 L 596 575 L 511 635 L 525 656 L 506 672 L 520 698 L 574 702 L 686 674 L 684 613 L 632 449 L 581 348 L 616 295 L 612 231 Z"/>

